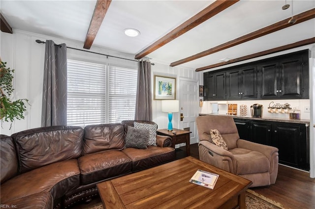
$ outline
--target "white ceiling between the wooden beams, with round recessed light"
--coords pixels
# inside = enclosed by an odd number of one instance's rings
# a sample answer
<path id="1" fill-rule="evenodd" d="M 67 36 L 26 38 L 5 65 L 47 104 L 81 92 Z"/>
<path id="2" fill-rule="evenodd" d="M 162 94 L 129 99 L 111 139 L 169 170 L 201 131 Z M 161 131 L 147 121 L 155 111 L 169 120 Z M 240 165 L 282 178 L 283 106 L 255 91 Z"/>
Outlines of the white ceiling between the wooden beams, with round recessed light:
<path id="1" fill-rule="evenodd" d="M 94 46 L 137 54 L 214 0 L 112 0 Z M 147 56 L 172 63 L 291 17 L 285 0 L 240 0 Z M 1 0 L 0 11 L 12 28 L 85 41 L 96 0 Z M 293 0 L 293 15 L 315 8 L 315 0 Z M 127 37 L 132 27 L 141 34 Z M 237 58 L 315 37 L 315 19 L 183 64 L 204 67 L 224 57 Z M 82 43 L 83 46 L 83 43 Z"/>

